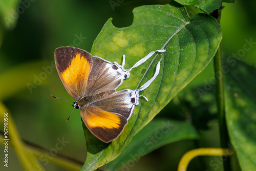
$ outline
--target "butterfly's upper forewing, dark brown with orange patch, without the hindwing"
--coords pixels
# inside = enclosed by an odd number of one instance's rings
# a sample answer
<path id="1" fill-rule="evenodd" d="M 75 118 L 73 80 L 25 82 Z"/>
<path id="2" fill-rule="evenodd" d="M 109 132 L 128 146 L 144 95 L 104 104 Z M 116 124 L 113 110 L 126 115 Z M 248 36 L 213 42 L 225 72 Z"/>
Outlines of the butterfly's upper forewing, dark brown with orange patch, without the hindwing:
<path id="1" fill-rule="evenodd" d="M 92 68 L 92 55 L 87 51 L 60 47 L 55 50 L 55 65 L 59 77 L 68 93 L 79 99 L 85 92 Z"/>

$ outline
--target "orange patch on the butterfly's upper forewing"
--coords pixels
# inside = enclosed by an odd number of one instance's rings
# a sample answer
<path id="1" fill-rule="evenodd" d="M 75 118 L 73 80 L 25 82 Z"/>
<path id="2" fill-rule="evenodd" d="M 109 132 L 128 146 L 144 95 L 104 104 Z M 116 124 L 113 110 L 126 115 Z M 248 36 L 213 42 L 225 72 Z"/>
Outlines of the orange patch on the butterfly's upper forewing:
<path id="1" fill-rule="evenodd" d="M 77 53 L 75 57 L 71 60 L 69 67 L 61 73 L 62 79 L 69 85 L 69 87 L 76 88 L 76 94 L 80 94 L 83 89 L 84 83 L 87 83 L 91 63 Z"/>

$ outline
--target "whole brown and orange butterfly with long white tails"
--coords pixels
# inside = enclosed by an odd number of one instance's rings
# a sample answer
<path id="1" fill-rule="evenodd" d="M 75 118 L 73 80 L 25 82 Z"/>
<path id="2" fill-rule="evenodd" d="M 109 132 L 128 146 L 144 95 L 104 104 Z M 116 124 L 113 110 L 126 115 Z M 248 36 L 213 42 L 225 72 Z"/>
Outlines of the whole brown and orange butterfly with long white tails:
<path id="1" fill-rule="evenodd" d="M 117 62 L 92 56 L 79 48 L 60 47 L 55 50 L 58 75 L 68 93 L 76 100 L 73 109 L 80 109 L 84 124 L 101 141 L 109 143 L 122 133 L 135 105 L 139 104 L 139 92 L 150 86 L 159 74 L 160 61 L 154 76 L 138 90 L 126 89 L 116 92 L 116 89 L 124 79 L 129 78 L 133 68 L 141 65 L 156 52 L 163 53 L 165 50 L 153 51 L 130 69 L 124 69 L 125 55 L 120 66 Z"/>

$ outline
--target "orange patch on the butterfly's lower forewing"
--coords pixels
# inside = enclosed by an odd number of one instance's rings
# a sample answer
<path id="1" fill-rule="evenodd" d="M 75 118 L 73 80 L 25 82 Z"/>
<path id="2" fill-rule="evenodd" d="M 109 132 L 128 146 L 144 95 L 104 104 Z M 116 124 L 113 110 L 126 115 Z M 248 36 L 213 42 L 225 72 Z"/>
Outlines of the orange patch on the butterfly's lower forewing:
<path id="1" fill-rule="evenodd" d="M 88 108 L 87 109 L 86 120 L 89 127 L 102 127 L 105 129 L 118 129 L 121 124 L 121 118 L 118 115 L 115 115 L 110 112 L 102 111 L 97 108 Z"/>

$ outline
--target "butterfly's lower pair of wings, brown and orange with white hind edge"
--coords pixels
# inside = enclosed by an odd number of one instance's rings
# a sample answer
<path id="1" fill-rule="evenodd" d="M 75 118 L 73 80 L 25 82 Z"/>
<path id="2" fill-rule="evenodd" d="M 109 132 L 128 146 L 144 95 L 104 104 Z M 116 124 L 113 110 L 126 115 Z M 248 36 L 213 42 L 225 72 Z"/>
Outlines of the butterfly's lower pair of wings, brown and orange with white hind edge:
<path id="1" fill-rule="evenodd" d="M 108 143 L 121 134 L 138 98 L 138 90 L 115 92 L 81 108 L 80 114 L 91 133 Z"/>

